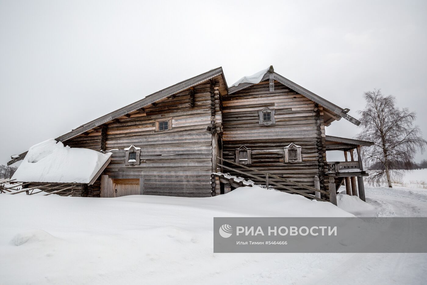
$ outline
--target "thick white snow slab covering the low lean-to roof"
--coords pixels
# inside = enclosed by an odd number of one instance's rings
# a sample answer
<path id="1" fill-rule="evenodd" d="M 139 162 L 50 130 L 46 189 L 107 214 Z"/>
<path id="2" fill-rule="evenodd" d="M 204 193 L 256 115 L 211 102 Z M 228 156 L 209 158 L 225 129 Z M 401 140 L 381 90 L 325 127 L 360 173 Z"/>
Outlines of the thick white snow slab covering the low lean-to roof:
<path id="1" fill-rule="evenodd" d="M 12 179 L 22 182 L 89 183 L 108 161 L 109 153 L 64 147 L 49 139 L 29 148 Z"/>

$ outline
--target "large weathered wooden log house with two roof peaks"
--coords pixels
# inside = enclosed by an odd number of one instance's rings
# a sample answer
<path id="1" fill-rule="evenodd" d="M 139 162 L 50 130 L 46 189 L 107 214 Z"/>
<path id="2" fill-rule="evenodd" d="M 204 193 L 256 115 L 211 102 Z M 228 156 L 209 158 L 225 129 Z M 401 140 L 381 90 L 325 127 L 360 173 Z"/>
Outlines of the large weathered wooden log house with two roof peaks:
<path id="1" fill-rule="evenodd" d="M 258 83 L 228 87 L 222 68 L 215 68 L 56 138 L 72 148 L 112 153 L 91 185 L 78 186 L 79 193 L 208 197 L 244 185 L 221 172 L 335 204 L 347 177 L 357 177 L 363 192 L 360 147 L 371 143 L 325 135 L 325 127 L 341 118 L 360 122 L 272 66 L 261 76 Z M 327 161 L 327 150 L 353 149 L 356 162 L 353 155 L 351 161 Z M 351 181 L 348 189 L 356 187 Z"/>

